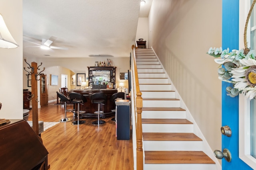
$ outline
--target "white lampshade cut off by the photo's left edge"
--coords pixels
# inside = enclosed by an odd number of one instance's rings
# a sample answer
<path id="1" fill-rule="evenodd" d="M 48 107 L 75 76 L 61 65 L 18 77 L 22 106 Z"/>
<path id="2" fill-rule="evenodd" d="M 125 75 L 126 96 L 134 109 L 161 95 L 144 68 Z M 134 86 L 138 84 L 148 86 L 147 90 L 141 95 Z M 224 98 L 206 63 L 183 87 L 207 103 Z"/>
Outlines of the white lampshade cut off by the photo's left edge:
<path id="1" fill-rule="evenodd" d="M 0 14 L 0 48 L 13 49 L 17 47 L 19 47 L 19 45 L 12 37 L 4 22 L 2 14 Z"/>

